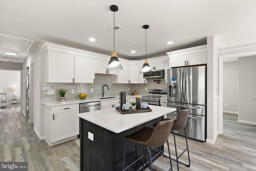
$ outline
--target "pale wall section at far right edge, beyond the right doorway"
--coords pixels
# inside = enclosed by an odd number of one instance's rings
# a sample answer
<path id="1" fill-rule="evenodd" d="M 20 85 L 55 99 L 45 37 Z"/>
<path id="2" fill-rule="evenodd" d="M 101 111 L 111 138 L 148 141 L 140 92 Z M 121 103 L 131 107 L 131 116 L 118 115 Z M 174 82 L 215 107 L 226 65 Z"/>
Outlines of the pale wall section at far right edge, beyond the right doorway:
<path id="1" fill-rule="evenodd" d="M 256 56 L 238 58 L 238 121 L 256 125 Z"/>

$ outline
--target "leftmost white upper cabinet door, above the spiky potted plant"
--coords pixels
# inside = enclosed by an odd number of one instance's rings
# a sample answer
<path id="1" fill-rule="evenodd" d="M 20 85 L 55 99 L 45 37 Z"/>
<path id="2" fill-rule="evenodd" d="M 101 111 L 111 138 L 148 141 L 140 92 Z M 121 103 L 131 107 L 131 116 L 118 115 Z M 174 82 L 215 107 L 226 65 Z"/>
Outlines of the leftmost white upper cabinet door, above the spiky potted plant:
<path id="1" fill-rule="evenodd" d="M 72 83 L 74 78 L 74 55 L 48 50 L 45 58 L 45 82 Z"/>

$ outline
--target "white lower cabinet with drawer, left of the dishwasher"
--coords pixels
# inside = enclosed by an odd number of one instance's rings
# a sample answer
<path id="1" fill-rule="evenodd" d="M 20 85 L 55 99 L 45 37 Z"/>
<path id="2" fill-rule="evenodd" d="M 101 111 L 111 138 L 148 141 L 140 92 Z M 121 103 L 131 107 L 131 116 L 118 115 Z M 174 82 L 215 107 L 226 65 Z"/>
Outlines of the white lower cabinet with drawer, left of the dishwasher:
<path id="1" fill-rule="evenodd" d="M 79 104 L 45 106 L 44 113 L 44 138 L 50 146 L 77 138 Z"/>

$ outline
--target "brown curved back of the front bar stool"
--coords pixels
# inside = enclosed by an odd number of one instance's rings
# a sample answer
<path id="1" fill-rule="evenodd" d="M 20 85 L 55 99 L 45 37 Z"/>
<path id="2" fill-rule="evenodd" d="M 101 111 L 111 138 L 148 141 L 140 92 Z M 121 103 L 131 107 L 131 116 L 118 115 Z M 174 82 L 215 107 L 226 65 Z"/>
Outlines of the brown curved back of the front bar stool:
<path id="1" fill-rule="evenodd" d="M 172 124 L 174 122 L 174 116 L 170 119 L 166 119 L 158 122 L 154 129 L 150 139 L 145 143 L 146 147 L 160 147 L 163 145 L 170 135 Z"/>

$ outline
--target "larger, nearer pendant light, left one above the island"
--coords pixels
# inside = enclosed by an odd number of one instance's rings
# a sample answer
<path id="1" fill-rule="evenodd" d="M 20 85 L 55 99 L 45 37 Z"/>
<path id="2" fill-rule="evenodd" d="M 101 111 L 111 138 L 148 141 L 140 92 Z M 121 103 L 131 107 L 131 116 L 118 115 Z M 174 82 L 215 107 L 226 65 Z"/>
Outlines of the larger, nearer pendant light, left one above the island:
<path id="1" fill-rule="evenodd" d="M 107 66 L 107 70 L 122 70 L 122 66 L 117 58 L 117 54 L 115 52 L 115 12 L 118 11 L 118 6 L 112 5 L 110 6 L 110 10 L 114 12 L 114 51 L 111 54 L 110 61 Z"/>

